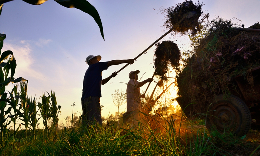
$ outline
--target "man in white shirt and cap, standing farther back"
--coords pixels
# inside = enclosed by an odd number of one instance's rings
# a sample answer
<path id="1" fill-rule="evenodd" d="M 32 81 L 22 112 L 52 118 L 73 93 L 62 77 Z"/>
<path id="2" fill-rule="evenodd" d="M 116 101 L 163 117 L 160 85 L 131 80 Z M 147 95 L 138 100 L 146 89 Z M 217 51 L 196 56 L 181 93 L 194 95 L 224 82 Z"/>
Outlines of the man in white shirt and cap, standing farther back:
<path id="1" fill-rule="evenodd" d="M 148 78 L 144 81 L 138 82 L 139 70 L 131 71 L 129 73 L 129 81 L 126 88 L 126 97 L 127 97 L 127 110 L 126 113 L 129 113 L 130 119 L 127 120 L 131 127 L 134 125 L 137 126 L 138 122 L 141 120 L 141 113 L 143 112 L 141 106 L 141 98 L 145 98 L 145 94 L 140 94 L 140 87 L 146 84 L 147 82 L 152 82 L 152 78 Z"/>

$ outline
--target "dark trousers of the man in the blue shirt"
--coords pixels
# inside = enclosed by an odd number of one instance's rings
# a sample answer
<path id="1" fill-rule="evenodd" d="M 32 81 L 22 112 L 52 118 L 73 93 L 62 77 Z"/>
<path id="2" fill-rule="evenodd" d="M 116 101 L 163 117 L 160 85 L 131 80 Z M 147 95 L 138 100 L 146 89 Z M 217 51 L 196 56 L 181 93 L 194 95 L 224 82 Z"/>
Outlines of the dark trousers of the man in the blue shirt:
<path id="1" fill-rule="evenodd" d="M 82 126 L 87 126 L 96 123 L 102 125 L 99 97 L 90 96 L 81 101 L 81 106 L 83 111 Z"/>

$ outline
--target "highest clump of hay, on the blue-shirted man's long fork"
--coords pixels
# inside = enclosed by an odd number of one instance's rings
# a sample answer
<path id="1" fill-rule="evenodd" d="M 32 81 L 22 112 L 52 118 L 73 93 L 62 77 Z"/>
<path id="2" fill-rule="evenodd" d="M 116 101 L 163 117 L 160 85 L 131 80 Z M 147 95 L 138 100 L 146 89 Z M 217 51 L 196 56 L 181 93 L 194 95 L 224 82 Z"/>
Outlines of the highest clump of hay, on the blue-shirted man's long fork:
<path id="1" fill-rule="evenodd" d="M 204 19 L 209 17 L 209 14 L 204 14 L 203 18 L 199 17 L 203 14 L 201 10 L 203 4 L 193 4 L 192 1 L 184 1 L 177 4 L 176 7 L 165 9 L 167 13 L 164 25 L 166 28 L 173 28 L 174 32 L 186 34 L 189 30 L 194 36 L 202 26 Z M 191 18 L 187 18 L 189 13 L 194 13 Z"/>

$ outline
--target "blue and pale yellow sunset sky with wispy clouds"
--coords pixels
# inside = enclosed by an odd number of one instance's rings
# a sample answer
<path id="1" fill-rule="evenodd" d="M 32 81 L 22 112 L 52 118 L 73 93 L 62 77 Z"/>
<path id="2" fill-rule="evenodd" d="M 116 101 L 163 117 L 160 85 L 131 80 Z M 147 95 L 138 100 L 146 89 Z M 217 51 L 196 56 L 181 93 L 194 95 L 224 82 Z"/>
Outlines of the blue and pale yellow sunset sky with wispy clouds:
<path id="1" fill-rule="evenodd" d="M 1 50 L 11 50 L 17 61 L 15 78 L 23 76 L 29 81 L 28 96 L 41 102 L 43 93 L 55 91 L 57 105 L 61 105 L 60 121 L 66 116 L 82 112 L 81 96 L 83 77 L 88 68 L 88 55 L 101 55 L 101 62 L 135 58 L 168 30 L 164 27 L 165 15 L 161 8 L 176 6 L 184 0 L 89 0 L 99 12 L 105 41 L 94 19 L 78 9 L 65 8 L 53 0 L 31 5 L 14 0 L 3 5 L 0 16 L 0 33 L 6 34 Z M 197 2 L 197 1 L 193 1 Z M 245 28 L 260 21 L 260 0 L 204 0 L 202 10 L 210 14 L 209 20 L 220 17 L 236 18 L 234 23 Z M 169 34 L 161 41 L 172 40 L 180 50 L 189 50 L 187 36 Z M 126 90 L 128 73 L 140 70 L 140 81 L 152 77 L 154 50 L 150 48 L 134 64 L 128 65 L 102 85 L 102 116 L 117 112 L 111 94 Z M 103 78 L 118 71 L 125 64 L 110 66 Z M 174 73 L 172 73 L 174 76 Z M 155 79 L 156 80 L 156 79 Z M 157 81 L 157 80 L 156 80 Z M 151 93 L 155 83 L 148 89 Z M 147 84 L 141 87 L 145 91 Z M 11 90 L 12 84 L 6 88 Z M 170 89 L 171 97 L 176 88 Z M 75 103 L 75 106 L 72 106 Z M 119 109 L 126 111 L 126 104 Z"/>

